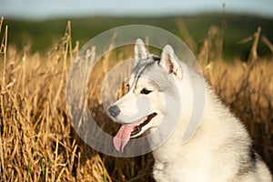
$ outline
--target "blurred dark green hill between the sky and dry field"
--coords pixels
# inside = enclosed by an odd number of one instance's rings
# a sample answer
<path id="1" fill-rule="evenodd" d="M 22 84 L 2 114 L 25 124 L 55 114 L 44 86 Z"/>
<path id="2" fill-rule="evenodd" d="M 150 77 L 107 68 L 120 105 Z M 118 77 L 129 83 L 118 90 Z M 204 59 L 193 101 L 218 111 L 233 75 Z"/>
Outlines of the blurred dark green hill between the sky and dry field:
<path id="1" fill-rule="evenodd" d="M 207 36 L 207 31 L 211 25 L 224 27 L 224 54 L 227 57 L 246 57 L 251 47 L 251 42 L 238 45 L 238 41 L 253 35 L 258 26 L 262 28 L 262 35 L 268 37 L 273 42 L 273 19 L 263 19 L 246 15 L 189 15 L 181 17 L 86 17 L 75 18 L 72 21 L 72 38 L 78 40 L 80 45 L 84 45 L 92 37 L 116 26 L 120 25 L 155 25 L 182 37 L 177 20 L 183 20 L 189 35 L 201 45 Z M 56 41 L 62 37 L 66 20 L 50 20 L 44 22 L 5 20 L 5 25 L 9 25 L 9 45 L 23 48 L 24 45 L 32 45 L 31 51 L 45 53 Z M 268 47 L 259 45 L 259 55 L 270 54 Z"/>

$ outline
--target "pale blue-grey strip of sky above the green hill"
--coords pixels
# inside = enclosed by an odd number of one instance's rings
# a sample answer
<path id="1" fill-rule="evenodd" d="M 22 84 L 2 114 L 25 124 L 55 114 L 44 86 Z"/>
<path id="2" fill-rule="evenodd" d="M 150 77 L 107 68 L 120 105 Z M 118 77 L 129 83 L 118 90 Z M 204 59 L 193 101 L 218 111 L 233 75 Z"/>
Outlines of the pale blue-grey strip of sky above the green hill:
<path id="1" fill-rule="evenodd" d="M 273 0 L 0 0 L 0 15 L 36 20 L 89 15 L 193 15 L 222 13 L 223 5 L 226 13 L 273 18 Z"/>

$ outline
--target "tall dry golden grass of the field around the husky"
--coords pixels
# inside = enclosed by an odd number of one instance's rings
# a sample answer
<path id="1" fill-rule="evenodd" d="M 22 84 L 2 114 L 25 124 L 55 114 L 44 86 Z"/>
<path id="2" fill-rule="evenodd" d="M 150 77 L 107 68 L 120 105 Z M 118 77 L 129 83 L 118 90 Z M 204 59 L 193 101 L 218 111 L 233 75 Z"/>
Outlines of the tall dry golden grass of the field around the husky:
<path id="1" fill-rule="evenodd" d="M 250 64 L 240 60 L 227 64 L 217 53 L 219 40 L 215 32 L 213 26 L 198 51 L 204 75 L 248 126 L 255 147 L 272 171 L 273 60 L 258 57 Z M 0 55 L 0 181 L 153 180 L 151 154 L 134 158 L 98 154 L 71 126 L 66 113 L 66 76 L 78 45 L 72 47 L 70 23 L 47 56 L 29 55 L 27 45 L 22 51 L 11 46 L 6 51 L 6 38 Z M 111 66 L 110 57 L 105 56 L 103 66 L 98 66 L 102 73 Z M 93 77 L 99 84 L 103 76 Z M 90 92 L 93 100 L 89 106 L 96 120 L 108 123 L 105 127 L 109 133 L 116 132 L 103 111 L 100 93 Z"/>

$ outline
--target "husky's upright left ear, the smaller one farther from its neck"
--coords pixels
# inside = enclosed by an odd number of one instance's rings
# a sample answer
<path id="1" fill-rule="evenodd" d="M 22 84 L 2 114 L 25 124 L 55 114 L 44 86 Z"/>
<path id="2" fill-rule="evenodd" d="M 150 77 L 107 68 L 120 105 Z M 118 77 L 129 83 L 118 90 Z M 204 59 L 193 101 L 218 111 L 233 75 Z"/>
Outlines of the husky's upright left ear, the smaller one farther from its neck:
<path id="1" fill-rule="evenodd" d="M 135 44 L 135 66 L 140 61 L 147 60 L 148 56 L 149 56 L 149 52 L 143 40 L 141 40 L 140 38 L 137 38 L 136 44 Z"/>

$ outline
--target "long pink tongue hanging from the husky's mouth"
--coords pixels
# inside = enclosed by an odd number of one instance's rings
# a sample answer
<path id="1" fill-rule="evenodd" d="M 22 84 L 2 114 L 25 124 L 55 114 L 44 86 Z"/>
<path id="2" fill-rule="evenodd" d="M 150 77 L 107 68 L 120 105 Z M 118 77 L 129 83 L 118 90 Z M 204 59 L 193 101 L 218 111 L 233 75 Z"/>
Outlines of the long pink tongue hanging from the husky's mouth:
<path id="1" fill-rule="evenodd" d="M 123 152 L 124 147 L 128 143 L 131 131 L 134 128 L 134 126 L 121 126 L 114 137 L 114 146 L 116 147 L 116 150 L 119 152 Z"/>

